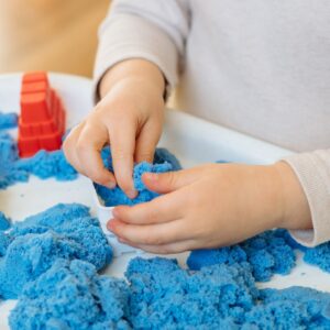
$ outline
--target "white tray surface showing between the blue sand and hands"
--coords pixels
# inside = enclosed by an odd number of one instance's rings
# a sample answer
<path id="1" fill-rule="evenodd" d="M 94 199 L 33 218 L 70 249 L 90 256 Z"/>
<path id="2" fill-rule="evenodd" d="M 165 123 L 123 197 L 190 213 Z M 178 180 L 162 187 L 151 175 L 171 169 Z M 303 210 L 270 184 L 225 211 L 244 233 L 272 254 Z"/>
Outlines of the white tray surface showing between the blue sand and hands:
<path id="1" fill-rule="evenodd" d="M 19 92 L 21 75 L 0 76 L 0 111 L 19 111 Z M 80 121 L 92 107 L 91 82 L 88 79 L 68 75 L 51 75 L 51 84 L 64 100 L 67 112 L 67 125 Z M 246 135 L 230 131 L 204 120 L 178 111 L 166 112 L 166 123 L 161 146 L 168 147 L 189 167 L 202 162 L 227 160 L 233 162 L 266 164 L 272 163 L 289 151 Z M 42 191 L 42 194 L 41 194 Z M 54 179 L 40 180 L 31 178 L 28 184 L 18 184 L 7 190 L 0 190 L 0 210 L 14 220 L 40 212 L 57 202 L 81 202 L 97 207 L 91 198 L 90 183 L 85 177 L 75 182 L 57 183 Z M 143 254 L 150 256 L 150 254 Z M 114 258 L 106 274 L 122 276 L 128 262 L 134 253 Z M 187 253 L 170 255 L 185 264 Z M 301 262 L 298 255 L 297 267 L 287 276 L 276 275 L 271 282 L 258 284 L 260 287 L 284 288 L 293 285 L 309 286 L 330 292 L 330 275 L 317 267 Z M 0 302 L 0 329 L 8 329 L 8 315 L 14 301 Z"/>

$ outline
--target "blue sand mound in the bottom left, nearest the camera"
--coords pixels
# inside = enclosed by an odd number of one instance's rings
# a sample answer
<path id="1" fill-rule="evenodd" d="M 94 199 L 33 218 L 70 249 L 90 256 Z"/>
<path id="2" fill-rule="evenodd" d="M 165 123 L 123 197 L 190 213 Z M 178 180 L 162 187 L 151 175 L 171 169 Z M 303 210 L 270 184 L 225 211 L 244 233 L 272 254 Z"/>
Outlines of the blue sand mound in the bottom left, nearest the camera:
<path id="1" fill-rule="evenodd" d="M 9 323 L 12 330 L 130 329 L 123 320 L 128 298 L 124 280 L 99 276 L 90 263 L 59 258 L 25 286 Z"/>

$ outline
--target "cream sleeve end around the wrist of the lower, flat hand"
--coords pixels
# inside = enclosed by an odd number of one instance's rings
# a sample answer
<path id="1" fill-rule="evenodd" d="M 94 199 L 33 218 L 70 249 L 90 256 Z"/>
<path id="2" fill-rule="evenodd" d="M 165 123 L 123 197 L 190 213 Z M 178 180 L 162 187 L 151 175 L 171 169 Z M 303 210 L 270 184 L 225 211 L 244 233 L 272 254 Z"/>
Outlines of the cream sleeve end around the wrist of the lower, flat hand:
<path id="1" fill-rule="evenodd" d="M 284 158 L 296 173 L 311 212 L 312 230 L 292 230 L 290 234 L 305 246 L 330 240 L 330 150 L 294 154 Z"/>

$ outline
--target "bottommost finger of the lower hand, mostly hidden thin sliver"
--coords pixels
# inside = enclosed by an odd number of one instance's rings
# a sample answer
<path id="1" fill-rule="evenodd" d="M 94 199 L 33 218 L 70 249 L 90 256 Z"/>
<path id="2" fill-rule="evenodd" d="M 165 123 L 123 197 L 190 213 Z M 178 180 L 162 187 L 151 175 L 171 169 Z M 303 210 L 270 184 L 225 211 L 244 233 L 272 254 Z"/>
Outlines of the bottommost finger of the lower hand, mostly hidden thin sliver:
<path id="1" fill-rule="evenodd" d="M 191 251 L 196 245 L 195 240 L 184 240 L 180 242 L 169 243 L 169 244 L 163 244 L 163 245 L 146 245 L 146 244 L 134 244 L 130 241 L 125 241 L 122 239 L 119 239 L 119 241 L 123 244 L 131 245 L 133 248 L 143 250 L 148 253 L 154 254 L 173 254 L 173 253 L 182 253 L 186 251 Z"/>

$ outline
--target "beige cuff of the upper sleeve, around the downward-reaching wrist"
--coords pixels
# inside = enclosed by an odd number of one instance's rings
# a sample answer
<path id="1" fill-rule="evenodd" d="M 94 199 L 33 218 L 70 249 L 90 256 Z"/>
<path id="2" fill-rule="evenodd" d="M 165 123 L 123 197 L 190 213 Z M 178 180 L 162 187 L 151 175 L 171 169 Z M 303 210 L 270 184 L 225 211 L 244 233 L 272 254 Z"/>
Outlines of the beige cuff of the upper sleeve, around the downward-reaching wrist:
<path id="1" fill-rule="evenodd" d="M 99 48 L 94 70 L 94 100 L 106 72 L 119 62 L 143 58 L 157 65 L 170 89 L 177 82 L 178 52 L 172 38 L 145 19 L 117 14 L 106 19 L 99 30 Z M 167 89 L 167 92 L 168 90 Z"/>

